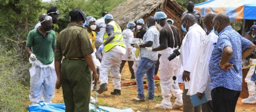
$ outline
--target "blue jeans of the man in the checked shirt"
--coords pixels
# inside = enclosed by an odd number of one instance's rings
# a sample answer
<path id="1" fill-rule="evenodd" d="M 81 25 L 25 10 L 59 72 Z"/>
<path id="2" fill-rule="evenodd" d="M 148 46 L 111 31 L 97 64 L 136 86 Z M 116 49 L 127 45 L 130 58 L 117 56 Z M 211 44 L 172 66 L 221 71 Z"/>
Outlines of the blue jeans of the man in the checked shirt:
<path id="1" fill-rule="evenodd" d="M 142 57 L 138 64 L 135 77 L 137 83 L 138 97 L 145 99 L 144 87 L 143 87 L 143 74 L 146 73 L 146 78 L 148 80 L 148 99 L 153 100 L 155 94 L 155 63 L 157 61 L 150 60 L 146 57 Z"/>

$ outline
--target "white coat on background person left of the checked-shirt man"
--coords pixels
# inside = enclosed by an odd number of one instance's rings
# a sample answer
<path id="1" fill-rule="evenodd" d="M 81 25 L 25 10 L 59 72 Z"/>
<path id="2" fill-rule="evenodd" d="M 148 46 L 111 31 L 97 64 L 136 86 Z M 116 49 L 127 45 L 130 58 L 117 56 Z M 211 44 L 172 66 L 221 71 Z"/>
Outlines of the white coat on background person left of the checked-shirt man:
<path id="1" fill-rule="evenodd" d="M 122 32 L 123 34 L 123 43 L 126 46 L 126 54 L 123 55 L 123 60 L 127 60 L 127 61 L 133 61 L 134 60 L 134 55 L 132 54 L 132 52 L 128 52 L 128 49 L 132 49 L 133 47 L 131 46 L 131 44 L 129 44 L 129 38 L 133 38 L 133 31 L 131 31 L 131 29 L 126 28 L 125 30 L 123 30 Z M 129 58 L 130 56 L 130 58 Z"/>

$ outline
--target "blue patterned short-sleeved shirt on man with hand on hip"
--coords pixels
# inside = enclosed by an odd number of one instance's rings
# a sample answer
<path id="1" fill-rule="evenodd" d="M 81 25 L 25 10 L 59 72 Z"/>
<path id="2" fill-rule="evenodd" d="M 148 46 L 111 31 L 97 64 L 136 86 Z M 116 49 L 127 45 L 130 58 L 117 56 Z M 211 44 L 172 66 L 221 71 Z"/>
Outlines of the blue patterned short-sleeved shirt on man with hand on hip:
<path id="1" fill-rule="evenodd" d="M 251 42 L 242 37 L 231 26 L 227 26 L 219 33 L 217 43 L 214 43 L 211 60 L 209 62 L 210 89 L 216 87 L 225 87 L 230 90 L 242 90 L 242 51 L 245 50 Z M 233 64 L 233 69 L 224 71 L 218 64 L 224 47 L 230 46 L 233 55 L 228 61 Z"/>

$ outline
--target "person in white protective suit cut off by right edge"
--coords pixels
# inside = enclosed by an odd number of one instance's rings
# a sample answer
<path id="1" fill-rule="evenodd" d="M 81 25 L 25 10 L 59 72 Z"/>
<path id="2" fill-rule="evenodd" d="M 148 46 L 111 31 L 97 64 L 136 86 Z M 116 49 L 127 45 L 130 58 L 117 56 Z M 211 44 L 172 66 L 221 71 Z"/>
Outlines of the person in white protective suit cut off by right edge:
<path id="1" fill-rule="evenodd" d="M 256 30 L 256 25 L 252 25 L 250 28 L 250 31 L 247 33 L 250 34 L 254 37 L 253 43 L 255 44 L 255 30 Z M 255 51 L 255 50 L 254 50 Z M 253 64 L 256 63 L 256 54 L 255 52 L 251 53 L 251 59 L 253 59 Z M 255 104 L 256 103 L 256 73 L 255 73 L 255 66 L 251 66 L 246 77 L 245 77 L 245 82 L 247 83 L 248 86 L 248 92 L 249 92 L 249 97 L 246 99 L 243 99 L 243 103 L 248 103 L 248 104 Z"/>

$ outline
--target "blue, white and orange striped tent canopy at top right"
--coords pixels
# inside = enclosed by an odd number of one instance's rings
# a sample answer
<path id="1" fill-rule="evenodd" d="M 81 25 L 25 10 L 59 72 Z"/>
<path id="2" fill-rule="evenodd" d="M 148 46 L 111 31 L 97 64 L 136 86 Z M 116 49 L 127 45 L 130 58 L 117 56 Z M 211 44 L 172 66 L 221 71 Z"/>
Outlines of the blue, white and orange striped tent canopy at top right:
<path id="1" fill-rule="evenodd" d="M 195 9 L 202 16 L 208 12 L 226 13 L 230 21 L 240 21 L 242 19 L 256 20 L 255 0 L 209 0 L 195 4 Z"/>

